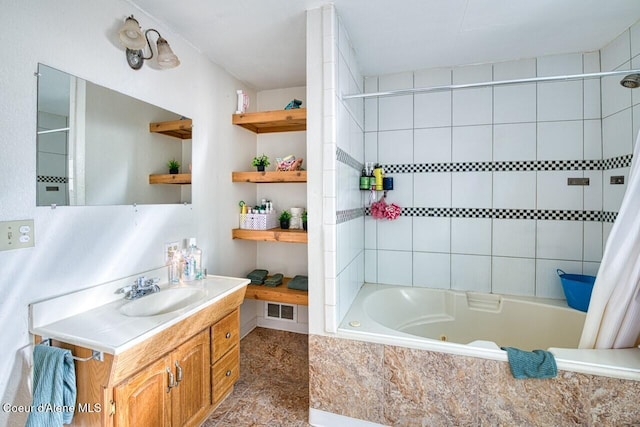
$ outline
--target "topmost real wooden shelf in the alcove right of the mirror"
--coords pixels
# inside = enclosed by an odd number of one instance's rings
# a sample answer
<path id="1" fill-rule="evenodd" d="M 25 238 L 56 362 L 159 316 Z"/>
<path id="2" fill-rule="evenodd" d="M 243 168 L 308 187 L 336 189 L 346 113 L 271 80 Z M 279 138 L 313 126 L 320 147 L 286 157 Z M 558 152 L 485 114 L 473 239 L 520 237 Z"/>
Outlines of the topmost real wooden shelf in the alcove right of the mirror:
<path id="1" fill-rule="evenodd" d="M 255 133 L 307 130 L 307 109 L 234 114 L 231 122 Z"/>

